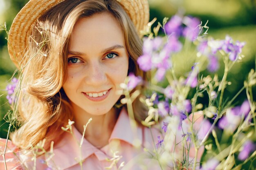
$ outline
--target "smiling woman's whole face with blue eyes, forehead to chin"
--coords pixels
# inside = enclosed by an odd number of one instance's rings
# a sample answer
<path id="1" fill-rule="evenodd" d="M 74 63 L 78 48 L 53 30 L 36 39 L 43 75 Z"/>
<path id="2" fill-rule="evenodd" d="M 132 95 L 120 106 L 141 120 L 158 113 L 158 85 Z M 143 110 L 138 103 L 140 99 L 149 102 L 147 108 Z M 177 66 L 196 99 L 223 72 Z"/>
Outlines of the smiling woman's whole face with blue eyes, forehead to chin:
<path id="1" fill-rule="evenodd" d="M 74 109 L 107 113 L 120 95 L 128 73 L 128 53 L 121 27 L 109 13 L 80 18 L 70 39 L 63 89 Z M 76 110 L 77 110 L 76 109 Z"/>

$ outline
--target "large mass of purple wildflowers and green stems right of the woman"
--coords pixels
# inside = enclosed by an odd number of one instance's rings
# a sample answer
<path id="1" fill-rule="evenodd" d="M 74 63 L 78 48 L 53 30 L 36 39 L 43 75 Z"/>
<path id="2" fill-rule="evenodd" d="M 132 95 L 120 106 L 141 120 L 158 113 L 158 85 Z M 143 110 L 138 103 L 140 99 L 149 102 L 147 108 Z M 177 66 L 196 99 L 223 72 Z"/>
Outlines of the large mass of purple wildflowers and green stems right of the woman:
<path id="1" fill-rule="evenodd" d="M 177 14 L 168 22 L 165 18 L 158 27 L 166 36 L 157 36 L 157 27 L 154 33 L 147 32 L 143 54 L 137 60 L 141 70 L 153 75 L 146 84 L 153 94 L 150 96 L 147 91 L 146 120 L 150 122 L 146 125 L 154 124 L 152 119 L 159 122 L 164 136 L 157 136 L 155 158 L 164 169 L 231 170 L 236 165 L 246 169 L 245 163 L 255 163 L 252 158 L 256 154 L 256 114 L 251 90 L 256 82 L 254 71 L 243 88 L 248 100 L 234 106 L 232 101 L 238 95 L 230 102 L 223 99 L 229 84 L 227 74 L 235 62 L 242 60 L 245 42 L 235 42 L 229 35 L 224 40 L 214 40 L 207 36 L 208 26 L 191 16 Z M 186 55 L 189 48 L 196 50 L 194 64 L 188 72 L 176 75 L 174 58 Z M 204 69 L 216 72 L 221 61 L 225 66 L 222 77 L 200 73 Z M 130 84 L 141 82 L 134 75 L 130 77 Z M 203 103 L 199 97 L 203 97 Z"/>

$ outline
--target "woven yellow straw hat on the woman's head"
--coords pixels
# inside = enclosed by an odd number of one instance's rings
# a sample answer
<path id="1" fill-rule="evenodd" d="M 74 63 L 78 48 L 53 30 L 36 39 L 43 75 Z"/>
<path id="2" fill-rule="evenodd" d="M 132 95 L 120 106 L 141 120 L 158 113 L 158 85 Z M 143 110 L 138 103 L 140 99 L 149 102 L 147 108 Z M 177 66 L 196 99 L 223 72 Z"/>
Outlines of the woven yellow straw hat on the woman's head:
<path id="1" fill-rule="evenodd" d="M 9 31 L 8 51 L 13 63 L 18 66 L 22 54 L 26 51 L 28 36 L 38 18 L 56 4 L 64 0 L 29 0 L 17 14 Z M 130 16 L 138 33 L 149 20 L 148 0 L 116 0 Z M 10 45 L 11 44 L 11 45 Z M 16 57 L 16 58 L 15 58 Z M 17 62 L 18 61 L 18 62 Z"/>

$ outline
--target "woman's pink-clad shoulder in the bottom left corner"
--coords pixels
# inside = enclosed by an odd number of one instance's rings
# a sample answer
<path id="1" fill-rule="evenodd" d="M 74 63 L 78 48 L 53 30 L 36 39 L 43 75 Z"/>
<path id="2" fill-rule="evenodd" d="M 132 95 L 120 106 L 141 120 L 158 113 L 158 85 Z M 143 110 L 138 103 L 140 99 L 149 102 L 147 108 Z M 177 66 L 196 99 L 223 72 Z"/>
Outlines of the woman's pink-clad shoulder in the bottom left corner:
<path id="1" fill-rule="evenodd" d="M 22 170 L 18 152 L 19 148 L 10 140 L 0 138 L 0 169 L 4 170 L 6 165 L 8 170 Z"/>

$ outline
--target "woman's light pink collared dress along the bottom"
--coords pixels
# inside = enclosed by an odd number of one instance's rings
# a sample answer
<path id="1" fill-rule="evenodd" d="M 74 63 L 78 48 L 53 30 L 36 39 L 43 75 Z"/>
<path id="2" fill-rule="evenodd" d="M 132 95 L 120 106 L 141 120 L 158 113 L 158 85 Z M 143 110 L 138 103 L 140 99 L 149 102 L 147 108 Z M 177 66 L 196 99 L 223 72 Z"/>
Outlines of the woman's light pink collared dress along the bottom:
<path id="1" fill-rule="evenodd" d="M 157 136 L 160 134 L 156 128 L 151 129 L 139 126 L 134 133 L 130 126 L 130 120 L 125 109 L 122 109 L 117 123 L 112 131 L 109 144 L 101 149 L 94 147 L 84 139 L 79 147 L 82 135 L 72 126 L 74 136 L 69 132 L 64 135 L 58 144 L 54 146 L 53 153 L 48 152 L 37 157 L 36 161 L 29 153 L 22 152 L 8 141 L 6 157 L 8 170 L 160 170 L 155 159 L 150 159 L 150 154 L 143 149 L 154 150 Z M 137 136 L 137 138 L 136 138 Z M 162 138 L 162 137 L 161 137 Z M 154 139 L 154 141 L 153 141 Z M 140 143 L 135 146 L 134 141 Z M 6 139 L 0 139 L 0 150 L 4 150 Z M 16 155 L 14 155 L 16 153 Z M 81 160 L 81 165 L 79 164 Z M 3 158 L 0 157 L 0 170 L 4 170 Z"/>

